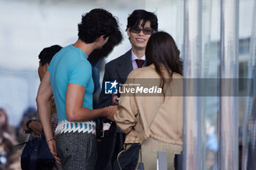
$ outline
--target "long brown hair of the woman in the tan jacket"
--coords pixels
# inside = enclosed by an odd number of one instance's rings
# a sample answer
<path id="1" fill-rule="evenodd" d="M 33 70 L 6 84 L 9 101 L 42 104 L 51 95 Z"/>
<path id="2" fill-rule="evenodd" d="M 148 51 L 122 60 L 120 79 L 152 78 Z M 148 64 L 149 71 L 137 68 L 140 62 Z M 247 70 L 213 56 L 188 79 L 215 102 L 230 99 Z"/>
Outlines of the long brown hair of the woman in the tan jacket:
<path id="1" fill-rule="evenodd" d="M 164 89 L 166 82 L 164 75 L 161 72 L 162 66 L 170 72 L 170 80 L 172 79 L 174 72 L 181 75 L 183 74 L 183 61 L 179 57 L 180 51 L 170 34 L 167 34 L 164 31 L 152 34 L 148 39 L 145 55 L 146 66 L 154 63 L 157 74 L 161 77 L 160 86 L 162 89 Z"/>

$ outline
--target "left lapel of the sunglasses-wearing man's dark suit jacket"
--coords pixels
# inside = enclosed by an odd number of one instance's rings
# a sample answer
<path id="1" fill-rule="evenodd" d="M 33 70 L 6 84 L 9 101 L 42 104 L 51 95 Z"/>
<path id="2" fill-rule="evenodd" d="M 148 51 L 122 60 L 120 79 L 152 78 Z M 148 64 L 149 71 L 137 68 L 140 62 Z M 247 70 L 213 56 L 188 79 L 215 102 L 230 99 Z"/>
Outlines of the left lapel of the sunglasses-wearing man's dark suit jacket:
<path id="1" fill-rule="evenodd" d="M 128 74 L 132 72 L 132 51 L 129 50 L 124 54 L 122 60 L 118 63 L 117 74 L 121 83 L 126 82 Z"/>

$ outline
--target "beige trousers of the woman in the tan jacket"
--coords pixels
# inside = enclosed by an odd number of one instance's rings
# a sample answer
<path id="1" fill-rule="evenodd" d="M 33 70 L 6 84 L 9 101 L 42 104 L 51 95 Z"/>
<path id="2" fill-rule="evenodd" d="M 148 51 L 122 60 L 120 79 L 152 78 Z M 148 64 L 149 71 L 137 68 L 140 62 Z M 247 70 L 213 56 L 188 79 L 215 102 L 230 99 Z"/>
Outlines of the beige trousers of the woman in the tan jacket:
<path id="1" fill-rule="evenodd" d="M 142 161 L 144 163 L 145 170 L 156 170 L 157 169 L 157 151 L 167 152 L 167 167 L 168 170 L 174 170 L 174 156 L 180 154 L 182 150 L 181 145 L 167 144 L 165 142 L 159 142 L 156 139 L 148 138 L 141 145 Z M 139 155 L 140 162 L 140 155 Z M 138 166 L 137 168 L 138 169 Z"/>

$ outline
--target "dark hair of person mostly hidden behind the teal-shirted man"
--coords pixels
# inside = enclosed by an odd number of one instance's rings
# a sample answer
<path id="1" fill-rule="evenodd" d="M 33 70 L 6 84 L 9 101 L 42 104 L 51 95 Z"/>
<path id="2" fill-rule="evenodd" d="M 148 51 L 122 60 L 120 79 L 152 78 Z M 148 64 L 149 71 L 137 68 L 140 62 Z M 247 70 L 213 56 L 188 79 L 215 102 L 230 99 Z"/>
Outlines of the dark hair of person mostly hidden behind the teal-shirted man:
<path id="1" fill-rule="evenodd" d="M 59 45 L 52 45 L 50 47 L 45 47 L 38 55 L 39 61 L 42 64 L 42 66 L 45 65 L 45 63 L 50 63 L 51 59 L 53 58 L 56 53 L 61 50 L 61 46 Z"/>

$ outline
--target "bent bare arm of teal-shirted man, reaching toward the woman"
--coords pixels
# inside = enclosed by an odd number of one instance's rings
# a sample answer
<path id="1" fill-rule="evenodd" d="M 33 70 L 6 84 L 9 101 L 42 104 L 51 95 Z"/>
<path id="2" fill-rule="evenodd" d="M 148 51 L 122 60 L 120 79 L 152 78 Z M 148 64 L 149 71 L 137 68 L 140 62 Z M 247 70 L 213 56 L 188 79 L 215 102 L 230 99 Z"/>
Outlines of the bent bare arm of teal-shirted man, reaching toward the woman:
<path id="1" fill-rule="evenodd" d="M 113 120 L 117 107 L 102 109 L 88 109 L 83 107 L 83 98 L 86 88 L 82 85 L 69 84 L 66 93 L 66 117 L 69 121 L 87 121 L 96 117 L 107 117 Z M 109 111 L 108 111 L 109 109 Z"/>

